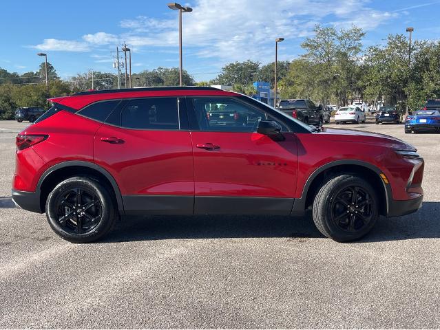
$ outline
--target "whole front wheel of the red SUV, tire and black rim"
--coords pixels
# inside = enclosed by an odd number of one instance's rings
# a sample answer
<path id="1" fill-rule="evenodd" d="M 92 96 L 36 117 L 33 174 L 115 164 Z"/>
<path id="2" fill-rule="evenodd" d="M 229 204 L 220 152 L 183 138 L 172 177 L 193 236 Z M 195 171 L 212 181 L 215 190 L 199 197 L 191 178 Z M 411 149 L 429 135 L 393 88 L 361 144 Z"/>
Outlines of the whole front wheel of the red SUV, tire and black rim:
<path id="1" fill-rule="evenodd" d="M 317 192 L 313 222 L 319 232 L 334 241 L 354 241 L 375 225 L 379 217 L 378 202 L 375 190 L 366 180 L 355 175 L 339 175 L 329 179 Z M 364 206 L 360 207 L 361 204 Z"/>

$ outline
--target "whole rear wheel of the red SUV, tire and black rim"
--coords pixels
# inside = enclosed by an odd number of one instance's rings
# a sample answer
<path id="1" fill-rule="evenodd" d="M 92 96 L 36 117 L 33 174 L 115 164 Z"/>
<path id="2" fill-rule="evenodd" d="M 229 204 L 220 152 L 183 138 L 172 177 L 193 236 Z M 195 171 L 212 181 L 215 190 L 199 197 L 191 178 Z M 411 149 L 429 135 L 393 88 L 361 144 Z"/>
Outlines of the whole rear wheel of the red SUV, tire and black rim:
<path id="1" fill-rule="evenodd" d="M 77 215 L 78 205 L 81 215 Z M 70 177 L 50 192 L 46 217 L 52 230 L 66 241 L 88 243 L 112 229 L 118 212 L 105 186 L 91 177 Z"/>

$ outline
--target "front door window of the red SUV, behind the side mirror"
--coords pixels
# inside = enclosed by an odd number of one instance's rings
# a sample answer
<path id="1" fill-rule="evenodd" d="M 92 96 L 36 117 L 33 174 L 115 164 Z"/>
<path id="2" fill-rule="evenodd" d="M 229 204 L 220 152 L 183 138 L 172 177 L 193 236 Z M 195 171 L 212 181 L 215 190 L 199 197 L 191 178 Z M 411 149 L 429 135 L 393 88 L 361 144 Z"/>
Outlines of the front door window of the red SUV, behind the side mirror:
<path id="1" fill-rule="evenodd" d="M 232 98 L 193 98 L 193 106 L 202 131 L 254 132 L 260 120 L 274 120 L 264 111 Z"/>

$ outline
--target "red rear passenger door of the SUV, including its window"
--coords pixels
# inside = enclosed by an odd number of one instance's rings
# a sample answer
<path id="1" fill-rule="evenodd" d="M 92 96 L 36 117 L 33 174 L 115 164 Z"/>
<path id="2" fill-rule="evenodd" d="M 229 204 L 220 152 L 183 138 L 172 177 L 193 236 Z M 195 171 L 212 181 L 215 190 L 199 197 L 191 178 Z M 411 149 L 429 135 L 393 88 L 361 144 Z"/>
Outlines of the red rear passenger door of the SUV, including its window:
<path id="1" fill-rule="evenodd" d="M 116 179 L 128 214 L 193 212 L 191 136 L 180 104 L 125 100 L 96 132 L 94 160 Z"/>

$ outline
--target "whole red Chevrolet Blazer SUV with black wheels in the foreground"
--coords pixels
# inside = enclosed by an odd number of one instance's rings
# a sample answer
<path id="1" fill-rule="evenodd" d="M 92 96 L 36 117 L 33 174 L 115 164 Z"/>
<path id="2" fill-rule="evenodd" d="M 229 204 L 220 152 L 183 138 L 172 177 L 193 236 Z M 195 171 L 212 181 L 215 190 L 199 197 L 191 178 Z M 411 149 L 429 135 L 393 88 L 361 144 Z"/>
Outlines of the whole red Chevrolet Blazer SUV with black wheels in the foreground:
<path id="1" fill-rule="evenodd" d="M 46 212 L 67 241 L 100 239 L 128 214 L 308 208 L 322 234 L 350 241 L 380 214 L 409 214 L 422 203 L 423 159 L 410 144 L 308 126 L 241 94 L 152 87 L 52 103 L 17 136 L 12 197 Z"/>

